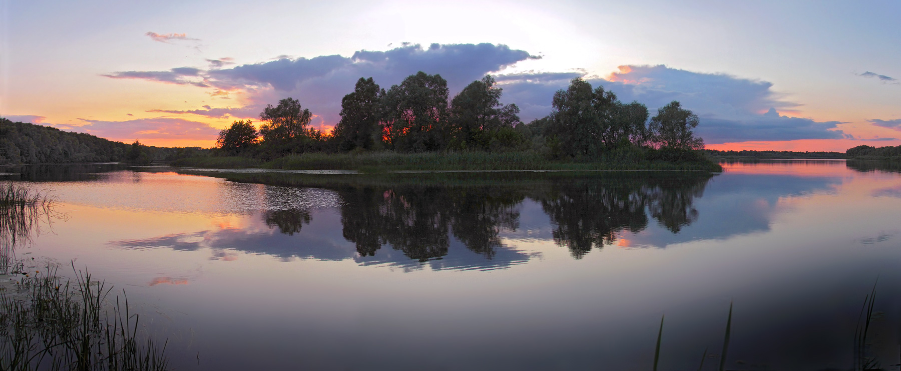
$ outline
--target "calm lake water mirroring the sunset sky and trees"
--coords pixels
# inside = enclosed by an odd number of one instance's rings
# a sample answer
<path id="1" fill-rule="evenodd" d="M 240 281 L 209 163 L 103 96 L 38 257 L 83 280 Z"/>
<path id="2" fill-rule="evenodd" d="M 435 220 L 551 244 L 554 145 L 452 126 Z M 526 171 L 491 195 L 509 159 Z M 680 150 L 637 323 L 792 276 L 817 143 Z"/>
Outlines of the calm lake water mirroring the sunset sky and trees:
<path id="1" fill-rule="evenodd" d="M 178 369 L 898 369 L 901 173 L 259 174 L 33 166 L 20 256 L 123 288 Z M 268 181 L 271 184 L 229 181 Z M 291 185 L 291 186 L 287 186 Z M 28 254 L 28 255 L 23 255 Z"/>

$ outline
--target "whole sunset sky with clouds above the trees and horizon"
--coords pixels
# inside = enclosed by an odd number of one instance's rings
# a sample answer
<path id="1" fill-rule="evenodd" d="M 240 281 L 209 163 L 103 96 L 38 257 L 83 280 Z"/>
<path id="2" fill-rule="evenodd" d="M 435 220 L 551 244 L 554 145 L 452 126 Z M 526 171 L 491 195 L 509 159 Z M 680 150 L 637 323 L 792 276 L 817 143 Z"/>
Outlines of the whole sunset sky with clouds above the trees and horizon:
<path id="1" fill-rule="evenodd" d="M 574 77 L 707 148 L 901 145 L 901 2 L 0 0 L 0 117 L 152 146 L 214 146 L 296 98 L 328 130 L 359 77 L 484 75 L 528 122 Z"/>

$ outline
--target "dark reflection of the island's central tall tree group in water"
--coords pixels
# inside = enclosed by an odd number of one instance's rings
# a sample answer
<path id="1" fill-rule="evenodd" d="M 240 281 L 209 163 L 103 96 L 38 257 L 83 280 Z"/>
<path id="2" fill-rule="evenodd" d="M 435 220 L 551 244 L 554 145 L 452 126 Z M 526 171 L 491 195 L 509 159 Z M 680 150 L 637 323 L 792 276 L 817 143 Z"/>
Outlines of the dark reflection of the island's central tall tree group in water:
<path id="1" fill-rule="evenodd" d="M 490 187 L 348 187 L 340 193 L 344 237 L 357 243 L 361 256 L 388 243 L 419 261 L 446 255 L 451 230 L 470 250 L 492 258 L 501 245 L 499 228 L 517 227 L 514 205 L 523 199 Z"/>

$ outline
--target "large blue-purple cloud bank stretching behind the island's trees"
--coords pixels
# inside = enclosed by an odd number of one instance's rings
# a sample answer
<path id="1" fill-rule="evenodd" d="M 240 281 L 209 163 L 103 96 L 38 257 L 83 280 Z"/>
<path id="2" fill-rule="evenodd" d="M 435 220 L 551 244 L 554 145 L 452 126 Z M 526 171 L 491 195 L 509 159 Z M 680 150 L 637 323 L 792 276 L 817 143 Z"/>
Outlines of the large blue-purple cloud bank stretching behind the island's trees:
<path id="1" fill-rule="evenodd" d="M 533 57 L 524 50 L 495 44 L 418 44 L 387 51 L 359 50 L 351 57 L 339 55 L 312 58 L 279 58 L 267 62 L 221 68 L 210 59 L 211 68 L 173 68 L 168 71 L 116 72 L 114 78 L 140 78 L 168 84 L 209 87 L 212 95 L 242 93 L 241 108 L 204 110 L 151 110 L 206 117 L 256 117 L 266 104 L 293 97 L 316 115 L 313 126 L 325 128 L 339 119 L 341 98 L 353 91 L 360 77 L 373 77 L 389 88 L 417 71 L 441 74 L 451 95 L 482 76 Z M 620 66 L 606 77 L 584 71 L 536 72 L 496 75 L 504 88 L 502 102 L 516 103 L 521 119 L 528 122 L 551 112 L 551 99 L 566 89 L 574 77 L 616 93 L 623 102 L 642 102 L 654 115 L 669 102 L 682 102 L 694 111 L 701 124 L 696 129 L 708 144 L 741 141 L 835 139 L 846 135 L 840 122 L 780 115 L 792 113 L 800 104 L 788 101 L 767 81 L 726 74 L 692 72 L 669 66 Z"/>

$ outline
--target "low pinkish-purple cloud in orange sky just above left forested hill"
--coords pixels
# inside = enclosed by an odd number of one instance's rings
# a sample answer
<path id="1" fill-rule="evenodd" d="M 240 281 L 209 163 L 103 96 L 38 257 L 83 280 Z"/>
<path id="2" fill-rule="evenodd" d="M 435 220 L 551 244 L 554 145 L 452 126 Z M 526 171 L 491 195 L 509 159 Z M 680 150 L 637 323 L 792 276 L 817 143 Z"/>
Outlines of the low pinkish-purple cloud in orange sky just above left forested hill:
<path id="1" fill-rule="evenodd" d="M 103 121 L 99 119 L 80 119 L 86 124 L 55 125 L 58 128 L 84 132 L 97 137 L 114 140 L 132 139 L 186 139 L 209 140 L 219 134 L 203 122 L 177 118 L 129 119 L 125 121 Z"/>

